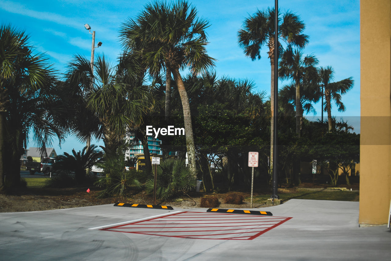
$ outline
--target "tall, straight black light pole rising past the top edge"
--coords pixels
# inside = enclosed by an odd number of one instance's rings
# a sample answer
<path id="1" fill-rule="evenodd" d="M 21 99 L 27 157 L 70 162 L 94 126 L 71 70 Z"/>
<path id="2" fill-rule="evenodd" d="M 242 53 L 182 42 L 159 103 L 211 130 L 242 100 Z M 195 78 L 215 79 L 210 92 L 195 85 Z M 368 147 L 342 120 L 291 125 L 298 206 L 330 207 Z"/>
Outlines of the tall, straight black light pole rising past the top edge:
<path id="1" fill-rule="evenodd" d="M 279 199 L 278 196 L 278 0 L 275 0 L 274 4 L 274 133 L 273 133 L 273 194 L 270 198 Z"/>

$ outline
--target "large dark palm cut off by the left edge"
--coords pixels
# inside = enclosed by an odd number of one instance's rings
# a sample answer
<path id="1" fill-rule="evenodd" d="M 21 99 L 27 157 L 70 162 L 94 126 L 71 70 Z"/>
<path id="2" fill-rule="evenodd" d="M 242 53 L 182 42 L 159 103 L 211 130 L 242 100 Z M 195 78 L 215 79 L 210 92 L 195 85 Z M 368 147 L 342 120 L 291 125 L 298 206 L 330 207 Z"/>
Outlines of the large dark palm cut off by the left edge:
<path id="1" fill-rule="evenodd" d="M 19 159 L 30 129 L 36 144 L 46 151 L 52 136 L 63 140 L 66 128 L 66 106 L 61 90 L 56 92 L 61 83 L 45 56 L 32 54 L 28 39 L 23 31 L 0 26 L 0 190 L 4 174 L 11 186 L 20 183 Z"/>

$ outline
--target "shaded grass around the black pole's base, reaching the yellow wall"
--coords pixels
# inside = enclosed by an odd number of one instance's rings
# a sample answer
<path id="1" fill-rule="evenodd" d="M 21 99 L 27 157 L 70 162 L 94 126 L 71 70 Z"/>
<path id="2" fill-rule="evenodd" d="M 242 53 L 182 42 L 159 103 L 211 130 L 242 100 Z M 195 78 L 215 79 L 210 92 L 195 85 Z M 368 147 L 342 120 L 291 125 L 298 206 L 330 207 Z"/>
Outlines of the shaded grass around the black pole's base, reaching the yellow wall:
<path id="1" fill-rule="evenodd" d="M 287 201 L 289 199 L 317 199 L 317 200 L 337 200 L 337 201 L 359 201 L 359 192 L 341 191 L 341 190 L 309 190 L 298 188 L 296 192 L 278 194 L 280 199 Z M 270 195 L 258 195 L 253 197 L 253 202 L 258 204 L 266 203 Z"/>

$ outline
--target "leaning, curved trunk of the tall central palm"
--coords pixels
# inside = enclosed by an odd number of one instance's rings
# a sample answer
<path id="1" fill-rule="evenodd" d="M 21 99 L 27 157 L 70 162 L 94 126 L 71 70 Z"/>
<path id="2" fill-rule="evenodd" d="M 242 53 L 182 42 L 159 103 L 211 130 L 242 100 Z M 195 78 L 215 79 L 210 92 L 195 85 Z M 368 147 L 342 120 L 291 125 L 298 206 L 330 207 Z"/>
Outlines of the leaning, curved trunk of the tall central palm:
<path id="1" fill-rule="evenodd" d="M 190 103 L 189 98 L 187 97 L 187 92 L 185 85 L 183 83 L 181 74 L 179 73 L 179 67 L 176 67 L 172 70 L 174 75 L 174 80 L 178 87 L 179 96 L 182 101 L 183 108 L 183 120 L 185 122 L 185 135 L 186 135 L 186 147 L 187 147 L 187 156 L 189 161 L 190 169 L 197 173 L 196 161 L 195 161 L 195 145 L 193 137 L 193 126 L 192 126 L 192 117 L 190 114 Z"/>

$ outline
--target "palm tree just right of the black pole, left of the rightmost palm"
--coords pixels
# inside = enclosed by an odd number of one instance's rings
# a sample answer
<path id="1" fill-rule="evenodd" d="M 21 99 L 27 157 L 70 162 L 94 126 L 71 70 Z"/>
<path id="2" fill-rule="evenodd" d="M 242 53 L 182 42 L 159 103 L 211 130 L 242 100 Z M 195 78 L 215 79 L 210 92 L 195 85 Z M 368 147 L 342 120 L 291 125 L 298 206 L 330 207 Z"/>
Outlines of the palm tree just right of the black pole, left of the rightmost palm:
<path id="1" fill-rule="evenodd" d="M 301 86 L 307 86 L 307 92 L 310 92 L 309 88 L 315 88 L 317 82 L 317 68 L 315 67 L 319 61 L 314 55 L 307 55 L 303 57 L 303 52 L 299 50 L 292 50 L 288 47 L 282 54 L 280 61 L 279 74 L 282 79 L 291 78 L 292 84 L 296 88 L 296 134 L 300 137 L 301 121 L 303 117 L 302 105 L 301 105 Z M 308 107 L 308 105 L 307 105 Z"/>

